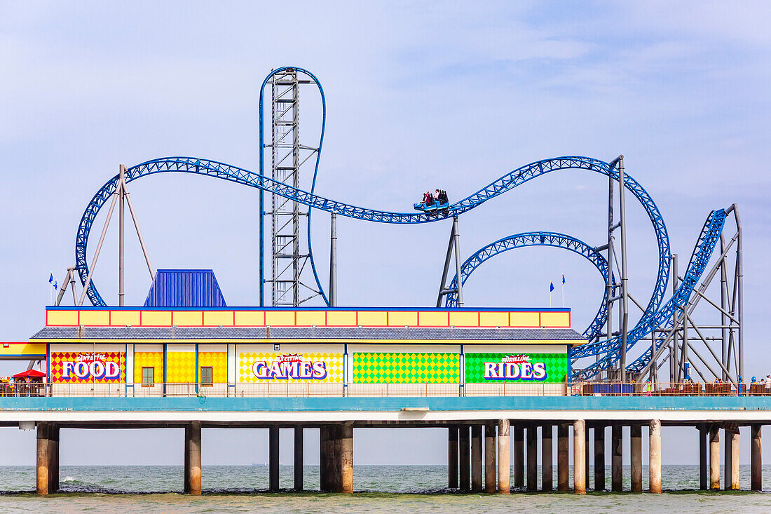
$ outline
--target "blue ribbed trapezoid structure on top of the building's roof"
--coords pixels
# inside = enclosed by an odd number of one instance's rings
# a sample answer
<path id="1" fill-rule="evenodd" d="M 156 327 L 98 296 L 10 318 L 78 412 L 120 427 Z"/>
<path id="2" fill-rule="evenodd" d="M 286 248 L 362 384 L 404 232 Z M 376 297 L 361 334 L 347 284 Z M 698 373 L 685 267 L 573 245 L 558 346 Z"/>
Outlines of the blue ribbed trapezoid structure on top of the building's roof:
<path id="1" fill-rule="evenodd" d="M 146 307 L 227 307 L 211 269 L 159 269 Z"/>

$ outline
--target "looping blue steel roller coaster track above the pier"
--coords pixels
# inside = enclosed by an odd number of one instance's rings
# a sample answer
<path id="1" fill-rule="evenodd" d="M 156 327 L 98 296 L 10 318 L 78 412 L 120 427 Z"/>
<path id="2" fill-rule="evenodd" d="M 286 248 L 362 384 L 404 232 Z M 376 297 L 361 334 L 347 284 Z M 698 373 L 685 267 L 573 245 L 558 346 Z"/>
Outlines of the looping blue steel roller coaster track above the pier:
<path id="1" fill-rule="evenodd" d="M 264 141 L 264 90 L 269 79 L 275 76 L 277 73 L 281 73 L 285 70 L 297 70 L 298 72 L 305 73 L 308 77 L 311 77 L 313 83 L 318 86 L 318 90 L 321 93 L 322 99 L 322 130 L 318 144 L 318 151 L 315 152 L 315 167 L 311 182 L 310 191 L 304 191 L 298 188 L 296 184 L 288 184 L 284 181 L 278 181 L 274 178 L 270 178 L 265 174 L 265 156 L 264 148 L 266 147 Z M 187 173 L 197 174 L 212 178 L 218 178 L 224 181 L 231 181 L 236 184 L 242 184 L 251 188 L 258 189 L 260 193 L 260 205 L 261 205 L 261 231 L 260 231 L 260 303 L 264 305 L 264 199 L 265 193 L 275 195 L 276 197 L 284 198 L 287 201 L 295 202 L 296 205 L 304 205 L 308 208 L 308 224 L 307 224 L 307 237 L 308 237 L 308 257 L 311 264 L 313 276 L 318 286 L 318 291 L 324 299 L 325 303 L 329 304 L 329 300 L 325 294 L 325 290 L 322 286 L 321 280 L 318 278 L 318 272 L 316 269 L 315 261 L 313 259 L 313 252 L 311 247 L 311 223 L 310 215 L 312 211 L 325 211 L 332 213 L 333 215 L 345 216 L 348 218 L 354 218 L 361 221 L 370 221 L 376 223 L 388 223 L 399 225 L 414 225 L 420 223 L 436 223 L 444 221 L 450 218 L 457 219 L 460 215 L 471 211 L 475 208 L 479 208 L 485 202 L 502 196 L 504 193 L 512 191 L 514 188 L 533 180 L 544 176 L 545 174 L 555 171 L 591 171 L 592 173 L 602 174 L 608 177 L 611 181 L 619 181 L 621 187 L 632 194 L 640 203 L 642 208 L 648 215 L 648 219 L 651 221 L 651 225 L 655 234 L 657 246 L 658 246 L 658 269 L 656 273 L 655 285 L 651 296 L 648 299 L 647 304 L 641 306 L 641 317 L 635 326 L 631 327 L 626 333 L 626 350 L 630 350 L 635 347 L 635 344 L 641 340 L 648 338 L 651 340 L 651 345 L 641 353 L 631 364 L 626 366 L 626 370 L 635 373 L 641 373 L 644 371 L 650 372 L 651 367 L 658 367 L 655 364 L 656 358 L 662 353 L 663 347 L 668 344 L 672 336 L 676 337 L 674 329 L 681 323 L 683 316 L 688 309 L 689 302 L 694 296 L 695 290 L 699 286 L 699 281 L 708 268 L 710 259 L 718 244 L 721 246 L 721 257 L 725 258 L 728 249 L 726 246 L 730 246 L 730 243 L 726 245 L 725 238 L 723 236 L 723 228 L 726 222 L 726 218 L 730 212 L 735 211 L 735 207 L 732 206 L 726 209 L 715 209 L 709 213 L 702 231 L 699 234 L 699 238 L 695 244 L 692 252 L 689 264 L 685 269 L 685 274 L 680 281 L 679 286 L 675 289 L 672 296 L 664 301 L 666 295 L 666 288 L 670 282 L 672 254 L 670 252 L 669 238 L 667 228 L 664 223 L 664 218 L 658 207 L 655 205 L 655 201 L 651 198 L 650 194 L 638 183 L 634 178 L 628 174 L 623 174 L 620 177 L 618 160 L 611 162 L 601 161 L 592 157 L 581 156 L 565 156 L 555 157 L 550 159 L 544 159 L 541 161 L 535 161 L 530 164 L 526 164 L 522 167 L 510 171 L 498 178 L 496 181 L 487 184 L 484 188 L 466 196 L 466 198 L 449 204 L 446 207 L 443 206 L 441 210 L 433 210 L 430 212 L 395 212 L 395 211 L 381 211 L 372 208 L 363 208 L 356 205 L 350 205 L 342 201 L 335 201 L 331 198 L 325 198 L 321 195 L 315 194 L 315 182 L 318 174 L 318 164 L 321 158 L 321 148 L 324 140 L 325 130 L 325 117 L 326 106 L 325 96 L 321 86 L 321 83 L 316 77 L 308 72 L 308 70 L 294 67 L 279 68 L 271 72 L 266 77 L 261 88 L 260 95 L 260 171 L 254 172 L 244 169 L 242 167 L 236 167 L 231 164 L 224 164 L 218 161 L 210 161 L 207 159 L 201 159 L 197 157 L 162 157 L 145 161 L 135 166 L 126 168 L 122 175 L 116 175 L 109 179 L 99 191 L 96 191 L 89 204 L 86 206 L 86 210 L 83 212 L 80 220 L 75 244 L 75 269 L 79 275 L 80 282 L 84 287 L 84 294 L 88 296 L 89 301 L 95 306 L 105 306 L 106 303 L 103 297 L 99 294 L 99 290 L 96 287 L 96 282 L 93 279 L 92 273 L 89 270 L 89 264 L 86 259 L 89 235 L 93 223 L 96 219 L 96 215 L 100 209 L 105 205 L 109 198 L 116 194 L 119 190 L 121 181 L 123 184 L 131 181 L 136 181 L 140 178 L 148 177 L 153 174 L 160 173 Z M 621 180 L 620 180 L 621 179 Z M 112 206 L 110 208 L 112 211 Z M 737 226 L 739 227 L 738 213 L 737 213 Z M 732 242 L 736 241 L 737 236 L 734 236 Z M 731 243 L 732 243 L 731 242 Z M 483 262 L 491 259 L 495 255 L 499 255 L 502 252 L 507 252 L 511 249 L 519 249 L 527 246 L 547 246 L 566 249 L 571 252 L 575 252 L 578 255 L 582 255 L 585 259 L 588 259 L 601 273 L 603 278 L 608 281 L 611 291 L 618 290 L 618 280 L 610 268 L 612 263 L 608 262 L 601 253 L 592 245 L 588 245 L 581 240 L 572 237 L 571 235 L 559 234 L 556 232 L 524 232 L 516 235 L 510 235 L 505 238 L 500 238 L 496 242 L 490 243 L 490 245 L 484 246 L 482 249 L 474 252 L 463 265 L 460 266 L 460 277 L 456 273 L 456 276 L 450 282 L 448 293 L 445 297 L 445 306 L 447 308 L 456 308 L 459 306 L 458 295 L 460 286 L 462 286 L 467 279 L 470 278 L 473 271 L 478 268 Z M 449 253 L 448 253 L 449 258 Z M 714 270 L 711 272 L 709 279 L 714 276 Z M 675 276 L 672 279 L 675 280 L 678 277 Z M 458 283 L 460 280 L 460 284 Z M 739 289 L 741 282 L 739 282 Z M 699 293 L 697 291 L 697 293 Z M 739 294 L 741 291 L 739 290 Z M 701 293 L 703 295 L 703 291 Z M 735 293 L 736 295 L 736 293 Z M 712 302 L 711 302 L 712 303 Z M 727 309 L 723 309 L 727 312 Z M 679 317 L 678 317 L 679 316 Z M 594 362 L 583 369 L 574 370 L 574 380 L 587 380 L 591 377 L 597 376 L 602 370 L 608 370 L 618 365 L 622 354 L 622 334 L 621 333 L 603 333 L 602 330 L 608 322 L 608 301 L 604 299 L 594 320 L 589 323 L 586 330 L 584 330 L 584 336 L 588 339 L 588 343 L 577 347 L 572 354 L 572 359 L 578 360 L 584 357 L 595 357 Z M 669 333 L 668 337 L 657 337 L 656 334 Z M 739 347 L 741 352 L 741 347 Z M 725 358 L 723 359 L 725 360 Z M 723 366 L 725 369 L 725 366 Z M 738 371 L 738 370 L 737 370 Z"/>

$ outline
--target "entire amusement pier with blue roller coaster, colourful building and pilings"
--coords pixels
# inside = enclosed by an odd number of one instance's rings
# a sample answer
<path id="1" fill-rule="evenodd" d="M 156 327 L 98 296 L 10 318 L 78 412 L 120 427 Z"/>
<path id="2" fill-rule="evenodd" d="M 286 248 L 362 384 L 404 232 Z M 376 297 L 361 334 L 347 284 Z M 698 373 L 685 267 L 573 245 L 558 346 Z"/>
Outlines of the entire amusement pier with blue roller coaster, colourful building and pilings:
<path id="1" fill-rule="evenodd" d="M 206 428 L 267 429 L 270 491 L 279 490 L 279 431 L 291 429 L 293 490 L 307 489 L 303 442 L 307 431 L 318 430 L 321 490 L 355 492 L 353 437 L 367 428 L 446 428 L 450 490 L 581 494 L 622 491 L 625 454 L 631 491 L 662 492 L 663 428 L 690 427 L 701 489 L 739 489 L 741 451 L 750 455 L 750 489 L 763 489 L 761 429 L 771 424 L 771 387 L 744 374 L 736 204 L 726 199 L 705 210 L 692 254 L 679 260 L 662 212 L 627 173 L 623 155 L 536 161 L 454 203 L 446 191 L 419 191 L 423 201 L 412 212 L 348 205 L 315 191 L 325 118 L 318 139 L 308 140 L 313 130 L 307 129 L 301 139 L 301 97 L 320 101 L 326 116 L 321 83 L 308 70 L 281 67 L 264 80 L 258 171 L 163 157 L 116 165 L 118 173 L 93 194 L 76 228 L 74 262 L 62 266 L 56 301 L 45 307 L 45 324 L 31 327 L 29 340 L 0 348 L 0 360 L 26 367 L 0 384 L 0 425 L 36 430 L 39 495 L 59 492 L 62 429 L 117 428 L 179 428 L 179 490 L 191 495 L 200 495 L 205 482 Z M 608 181 L 607 239 L 589 244 L 557 232 L 503 232 L 475 252 L 461 251 L 461 234 L 471 229 L 461 222 L 464 213 L 567 170 Z M 257 190 L 253 306 L 227 303 L 216 265 L 153 267 L 129 184 L 159 173 Z M 645 211 L 657 242 L 649 295 L 638 296 L 643 288 L 628 279 L 629 199 Z M 314 260 L 312 214 L 331 221 L 322 249 L 328 270 Z M 341 306 L 339 216 L 448 229 L 436 296 L 421 307 Z M 99 237 L 89 248 L 95 225 Z M 110 226 L 119 235 L 117 265 L 99 262 Z M 128 235 L 136 235 L 149 275 L 132 278 L 149 284 L 144 303 L 134 306 L 124 299 Z M 594 319 L 574 320 L 565 307 L 476 308 L 477 299 L 464 299 L 476 268 L 533 246 L 567 250 L 594 265 L 604 282 L 595 292 Z M 97 279 L 114 275 L 119 289 L 110 305 Z M 739 447 L 740 431 L 749 431 L 750 448 Z M 605 455 L 608 437 L 611 455 Z"/>

